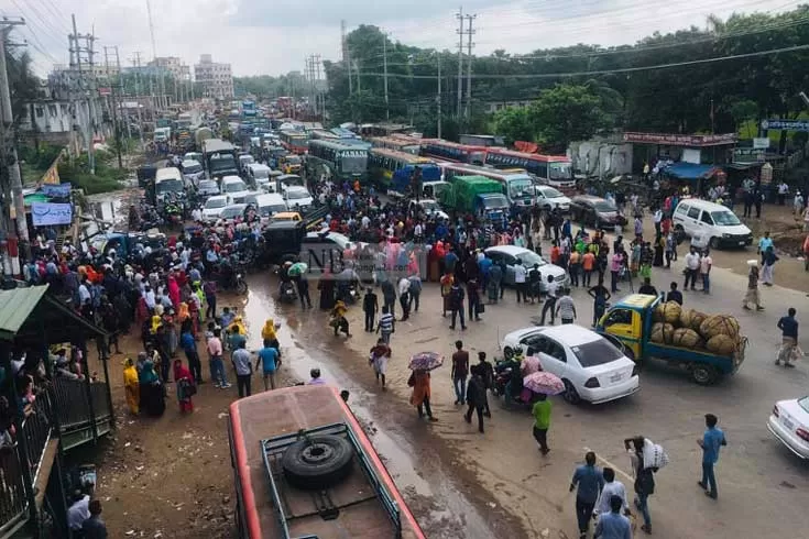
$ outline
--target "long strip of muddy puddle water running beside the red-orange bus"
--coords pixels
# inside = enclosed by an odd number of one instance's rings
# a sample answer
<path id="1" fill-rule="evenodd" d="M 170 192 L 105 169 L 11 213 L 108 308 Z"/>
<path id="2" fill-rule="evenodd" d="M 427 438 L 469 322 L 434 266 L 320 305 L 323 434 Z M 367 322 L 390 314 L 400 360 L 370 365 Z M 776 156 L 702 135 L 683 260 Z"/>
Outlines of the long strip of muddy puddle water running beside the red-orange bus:
<path id="1" fill-rule="evenodd" d="M 281 322 L 277 333 L 284 346 L 285 369 L 300 381 L 309 380 L 310 369 L 320 369 L 324 378 L 351 392 L 351 409 L 427 537 L 495 537 L 487 518 L 475 510 L 470 498 L 455 487 L 452 479 L 441 469 L 440 459 L 430 450 L 429 439 L 403 427 L 405 421 L 412 420 L 412 416 L 406 414 L 412 413 L 409 405 L 383 403 L 364 391 L 348 373 L 357 362 L 346 362 L 345 367 L 339 365 L 341 351 L 338 346 L 341 345 L 325 342 L 324 338 L 330 333 L 320 312 L 316 309 L 302 311 L 297 305 L 276 306 L 271 298 L 275 296 L 277 283 L 270 280 L 266 274 L 249 277 L 249 284 L 247 302 L 239 308 L 250 329 L 248 349 L 261 346 L 261 327 L 272 318 Z M 317 297 L 313 297 L 313 301 L 317 305 Z M 304 328 L 307 330 L 306 342 L 302 341 L 300 330 Z M 345 355 L 347 350 L 342 352 Z M 394 430 L 392 426 L 400 427 Z M 411 442 L 416 438 L 420 442 L 418 447 Z"/>

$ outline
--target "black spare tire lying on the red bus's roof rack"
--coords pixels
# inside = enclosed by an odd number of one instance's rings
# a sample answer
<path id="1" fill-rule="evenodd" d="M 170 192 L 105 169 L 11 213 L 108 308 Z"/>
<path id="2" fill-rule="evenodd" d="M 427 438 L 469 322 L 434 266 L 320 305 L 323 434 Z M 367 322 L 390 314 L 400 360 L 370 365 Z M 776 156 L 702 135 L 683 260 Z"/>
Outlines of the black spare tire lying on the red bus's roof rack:
<path id="1" fill-rule="evenodd" d="M 342 437 L 318 435 L 293 443 L 281 458 L 286 481 L 298 488 L 318 491 L 342 481 L 353 463 L 353 448 Z"/>

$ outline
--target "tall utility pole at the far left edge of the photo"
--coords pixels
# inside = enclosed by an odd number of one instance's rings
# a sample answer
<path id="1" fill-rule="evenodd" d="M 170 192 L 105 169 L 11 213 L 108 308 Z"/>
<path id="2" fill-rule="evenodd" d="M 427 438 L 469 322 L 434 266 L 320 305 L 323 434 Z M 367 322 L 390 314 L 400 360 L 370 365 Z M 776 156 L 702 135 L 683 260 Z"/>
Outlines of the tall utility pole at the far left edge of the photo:
<path id="1" fill-rule="evenodd" d="M 14 200 L 14 218 L 17 220 L 17 238 L 19 240 L 20 260 L 30 258 L 29 249 L 29 224 L 25 220 L 25 201 L 22 197 L 22 176 L 20 163 L 17 156 L 17 141 L 14 136 L 14 113 L 11 110 L 11 90 L 9 88 L 9 73 L 6 65 L 6 37 L 14 26 L 25 24 L 24 20 L 12 21 L 7 18 L 0 22 L 0 106 L 2 108 L 2 140 L 0 140 L 0 152 L 3 165 L 8 172 L 8 184 L 3 179 L 2 195 L 3 208 L 0 217 L 1 241 L 8 242 L 9 231 L 12 230 L 11 211 L 7 208 L 10 195 Z M 7 218 L 9 219 L 7 221 Z M 7 243 L 8 245 L 8 243 Z M 3 275 L 13 275 L 13 266 L 8 248 L 2 249 Z"/>

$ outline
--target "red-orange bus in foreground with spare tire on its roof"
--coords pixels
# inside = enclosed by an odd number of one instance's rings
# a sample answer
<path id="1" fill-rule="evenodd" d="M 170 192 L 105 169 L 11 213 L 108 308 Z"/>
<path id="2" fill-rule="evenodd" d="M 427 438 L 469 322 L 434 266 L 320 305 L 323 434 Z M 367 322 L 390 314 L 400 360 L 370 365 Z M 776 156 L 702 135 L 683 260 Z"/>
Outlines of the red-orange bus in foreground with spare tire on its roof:
<path id="1" fill-rule="evenodd" d="M 274 389 L 230 405 L 238 537 L 424 539 L 334 387 Z"/>

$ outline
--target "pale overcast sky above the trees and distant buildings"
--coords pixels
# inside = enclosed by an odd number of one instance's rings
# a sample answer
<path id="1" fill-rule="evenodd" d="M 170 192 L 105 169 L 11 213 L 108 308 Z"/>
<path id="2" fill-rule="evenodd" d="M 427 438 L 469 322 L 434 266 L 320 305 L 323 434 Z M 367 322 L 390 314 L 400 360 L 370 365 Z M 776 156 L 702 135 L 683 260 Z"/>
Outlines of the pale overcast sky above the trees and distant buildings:
<path id="1" fill-rule="evenodd" d="M 786 0 L 466 0 L 475 13 L 473 53 L 496 48 L 527 53 L 550 46 L 590 43 L 632 44 L 654 31 L 706 26 L 709 14 L 777 12 L 799 4 Z M 158 56 L 179 56 L 187 64 L 209 53 L 229 62 L 234 75 L 278 75 L 303 69 L 304 58 L 340 57 L 340 21 L 350 31 L 375 24 L 393 41 L 457 48 L 458 3 L 441 0 L 151 0 Z M 665 10 L 665 11 L 664 11 Z M 153 56 L 146 0 L 0 0 L 0 13 L 22 15 L 15 31 L 34 55 L 37 74 L 68 61 L 67 33 L 76 14 L 79 33 L 95 32 L 97 62 L 103 46 L 118 45 L 121 64 L 132 65 L 135 51 Z M 111 59 L 112 62 L 113 59 Z"/>

